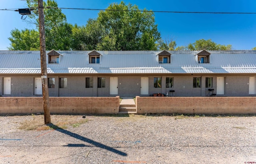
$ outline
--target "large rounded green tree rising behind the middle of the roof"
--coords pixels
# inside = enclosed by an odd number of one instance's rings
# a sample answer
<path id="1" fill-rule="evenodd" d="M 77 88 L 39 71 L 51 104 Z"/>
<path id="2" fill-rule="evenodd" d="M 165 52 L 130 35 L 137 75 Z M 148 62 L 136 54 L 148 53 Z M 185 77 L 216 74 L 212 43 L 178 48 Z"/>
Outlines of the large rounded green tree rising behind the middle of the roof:
<path id="1" fill-rule="evenodd" d="M 132 10 L 132 11 L 128 11 Z M 94 21 L 104 29 L 98 50 L 156 50 L 160 33 L 154 20 L 154 13 L 139 12 L 138 6 L 113 3 L 100 11 Z M 94 29 L 92 29 L 94 30 Z"/>

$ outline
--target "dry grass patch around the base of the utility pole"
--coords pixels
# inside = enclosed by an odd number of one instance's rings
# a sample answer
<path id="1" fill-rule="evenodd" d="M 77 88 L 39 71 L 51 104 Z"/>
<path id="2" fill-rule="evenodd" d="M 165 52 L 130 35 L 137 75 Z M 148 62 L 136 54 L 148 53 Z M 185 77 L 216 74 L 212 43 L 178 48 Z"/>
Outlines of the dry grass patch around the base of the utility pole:
<path id="1" fill-rule="evenodd" d="M 19 129 L 22 130 L 49 130 L 49 129 L 67 129 L 68 126 L 79 127 L 87 123 L 89 119 L 84 119 L 80 115 L 51 115 L 51 124 L 44 124 L 44 115 L 28 116 L 26 121 L 20 123 Z"/>

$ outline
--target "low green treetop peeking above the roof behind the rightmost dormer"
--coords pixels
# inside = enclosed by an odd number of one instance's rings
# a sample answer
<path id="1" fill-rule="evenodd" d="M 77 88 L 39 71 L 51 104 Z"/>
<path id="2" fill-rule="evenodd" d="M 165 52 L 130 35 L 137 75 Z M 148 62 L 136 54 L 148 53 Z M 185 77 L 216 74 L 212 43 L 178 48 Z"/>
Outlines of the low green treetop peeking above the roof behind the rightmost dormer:
<path id="1" fill-rule="evenodd" d="M 220 45 L 215 42 L 213 42 L 211 39 L 204 40 L 200 39 L 197 40 L 195 43 L 188 44 L 188 50 L 194 51 L 194 50 L 231 50 L 232 45 Z"/>

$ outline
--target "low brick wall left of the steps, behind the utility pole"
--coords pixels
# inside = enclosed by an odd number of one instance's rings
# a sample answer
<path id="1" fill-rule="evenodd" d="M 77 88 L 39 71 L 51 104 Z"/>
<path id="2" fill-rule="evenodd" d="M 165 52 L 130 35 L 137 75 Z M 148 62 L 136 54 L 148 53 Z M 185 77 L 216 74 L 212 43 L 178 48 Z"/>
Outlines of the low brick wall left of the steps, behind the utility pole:
<path id="1" fill-rule="evenodd" d="M 116 97 L 50 97 L 50 112 L 103 114 L 119 112 Z M 42 97 L 0 97 L 0 113 L 43 113 Z"/>

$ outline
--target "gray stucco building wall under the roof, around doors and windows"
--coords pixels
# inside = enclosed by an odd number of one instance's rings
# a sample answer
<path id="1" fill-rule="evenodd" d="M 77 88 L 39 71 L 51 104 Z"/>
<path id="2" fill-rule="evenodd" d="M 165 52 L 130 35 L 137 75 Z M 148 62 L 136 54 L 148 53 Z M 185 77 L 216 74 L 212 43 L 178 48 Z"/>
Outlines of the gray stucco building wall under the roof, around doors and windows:
<path id="1" fill-rule="evenodd" d="M 95 75 L 95 74 L 94 74 Z M 55 78 L 55 88 L 49 88 L 49 96 L 52 97 L 105 97 L 105 96 L 117 96 L 110 95 L 110 77 L 118 77 L 118 96 L 142 96 L 140 95 L 140 78 L 148 77 L 148 95 L 150 96 L 155 93 L 170 94 L 170 90 L 175 90 L 175 96 L 206 96 L 208 94 L 208 88 L 205 87 L 205 78 L 212 77 L 212 88 L 216 93 L 217 89 L 217 77 L 224 77 L 224 95 L 216 96 L 256 96 L 256 94 L 249 95 L 249 78 L 250 76 L 230 76 L 229 75 L 199 75 L 199 74 L 164 74 L 164 75 L 150 75 L 146 74 L 136 74 L 134 76 L 116 76 L 118 74 L 113 74 L 111 76 L 107 75 L 97 75 L 92 76 L 92 74 L 76 75 L 76 76 L 55 76 L 54 74 L 48 74 L 48 77 Z M 4 76 L 11 77 L 11 95 L 10 96 L 35 96 L 34 86 L 35 78 L 40 76 Z M 94 80 L 93 88 L 85 88 L 85 78 L 92 77 Z M 106 87 L 98 88 L 97 81 L 98 77 L 106 78 Z M 154 88 L 154 77 L 162 77 L 162 88 Z M 166 88 L 166 77 L 173 78 L 173 88 Z M 193 88 L 193 77 L 201 77 L 201 88 Z M 59 88 L 59 78 L 68 78 L 68 87 Z M 4 80 L 3 76 L 0 77 L 0 96 L 3 95 Z M 8 95 L 9 96 L 9 95 Z M 41 96 L 41 95 L 39 95 Z"/>

